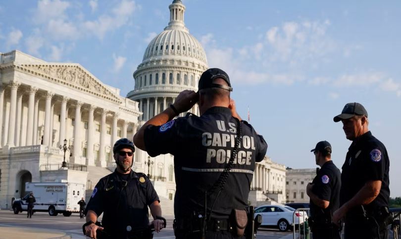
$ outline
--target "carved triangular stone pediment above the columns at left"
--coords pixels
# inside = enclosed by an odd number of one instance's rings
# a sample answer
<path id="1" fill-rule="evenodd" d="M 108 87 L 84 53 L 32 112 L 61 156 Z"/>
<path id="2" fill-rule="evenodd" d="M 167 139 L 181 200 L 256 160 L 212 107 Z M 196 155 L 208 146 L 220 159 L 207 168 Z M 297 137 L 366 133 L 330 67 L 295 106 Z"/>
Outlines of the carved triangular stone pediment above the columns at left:
<path id="1" fill-rule="evenodd" d="M 118 104 L 122 103 L 118 95 L 111 92 L 100 80 L 79 64 L 21 64 L 16 67 L 55 83 L 65 84 Z"/>

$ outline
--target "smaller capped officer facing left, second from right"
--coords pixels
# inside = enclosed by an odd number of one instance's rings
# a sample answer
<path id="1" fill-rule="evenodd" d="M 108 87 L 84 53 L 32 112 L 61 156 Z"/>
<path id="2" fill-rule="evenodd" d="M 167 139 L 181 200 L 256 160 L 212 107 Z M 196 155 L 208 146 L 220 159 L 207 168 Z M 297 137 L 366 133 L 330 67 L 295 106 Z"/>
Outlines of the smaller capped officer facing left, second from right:
<path id="1" fill-rule="evenodd" d="M 309 226 L 313 239 L 341 239 L 340 230 L 333 224 L 333 212 L 339 208 L 341 173 L 331 160 L 332 148 L 329 142 L 320 141 L 310 152 L 320 166 L 312 183 L 306 186 L 310 198 Z"/>

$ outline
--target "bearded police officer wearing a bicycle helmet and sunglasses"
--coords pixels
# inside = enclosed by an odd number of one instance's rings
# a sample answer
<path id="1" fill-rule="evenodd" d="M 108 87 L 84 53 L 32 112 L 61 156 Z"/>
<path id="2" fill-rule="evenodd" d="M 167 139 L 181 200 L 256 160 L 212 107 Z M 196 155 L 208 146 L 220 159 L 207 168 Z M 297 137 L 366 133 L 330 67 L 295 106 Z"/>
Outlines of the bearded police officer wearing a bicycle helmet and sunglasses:
<path id="1" fill-rule="evenodd" d="M 113 154 L 117 167 L 113 173 L 100 179 L 92 193 L 85 209 L 87 223 L 83 230 L 86 236 L 152 238 L 148 206 L 154 218 L 151 224 L 155 231 L 159 232 L 164 226 L 159 198 L 149 178 L 131 169 L 134 152 L 134 143 L 130 140 L 122 138 L 115 142 Z M 101 213 L 103 218 L 100 226 L 97 219 Z"/>

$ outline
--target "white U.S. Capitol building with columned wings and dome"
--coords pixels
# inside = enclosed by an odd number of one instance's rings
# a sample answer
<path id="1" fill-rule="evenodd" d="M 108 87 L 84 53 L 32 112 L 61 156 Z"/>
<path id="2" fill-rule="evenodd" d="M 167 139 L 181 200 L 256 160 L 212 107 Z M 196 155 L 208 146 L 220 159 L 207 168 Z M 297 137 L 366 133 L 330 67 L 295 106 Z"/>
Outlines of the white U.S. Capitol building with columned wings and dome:
<path id="1" fill-rule="evenodd" d="M 169 10 L 168 26 L 150 41 L 127 97 L 79 64 L 50 63 L 17 50 L 0 53 L 1 208 L 25 195 L 26 182 L 84 183 L 88 194 L 114 170 L 117 139 L 132 139 L 182 90 L 197 91 L 208 68 L 205 51 L 185 27 L 181 0 Z M 199 115 L 197 106 L 190 112 Z M 174 198 L 171 155 L 150 158 L 137 150 L 133 169 L 149 173 L 161 201 Z M 285 166 L 265 157 L 256 163 L 250 201 L 284 202 L 285 185 Z"/>

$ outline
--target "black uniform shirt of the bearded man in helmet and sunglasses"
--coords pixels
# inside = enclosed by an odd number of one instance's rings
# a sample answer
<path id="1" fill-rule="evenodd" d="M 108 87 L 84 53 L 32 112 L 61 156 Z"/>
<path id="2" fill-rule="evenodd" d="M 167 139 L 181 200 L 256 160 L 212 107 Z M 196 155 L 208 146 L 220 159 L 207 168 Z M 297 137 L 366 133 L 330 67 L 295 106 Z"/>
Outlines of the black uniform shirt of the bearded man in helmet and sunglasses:
<path id="1" fill-rule="evenodd" d="M 143 173 L 131 170 L 120 174 L 116 170 L 101 178 L 85 209 L 98 216 L 103 213 L 102 225 L 106 232 L 125 232 L 127 226 L 143 229 L 149 225 L 148 205 L 158 201 L 156 191 Z"/>

